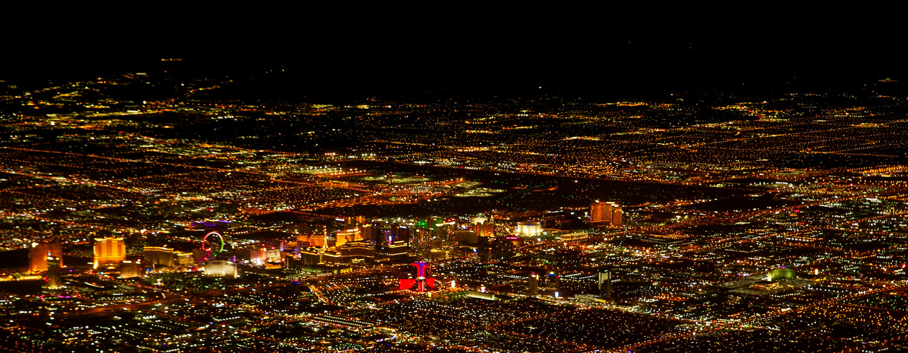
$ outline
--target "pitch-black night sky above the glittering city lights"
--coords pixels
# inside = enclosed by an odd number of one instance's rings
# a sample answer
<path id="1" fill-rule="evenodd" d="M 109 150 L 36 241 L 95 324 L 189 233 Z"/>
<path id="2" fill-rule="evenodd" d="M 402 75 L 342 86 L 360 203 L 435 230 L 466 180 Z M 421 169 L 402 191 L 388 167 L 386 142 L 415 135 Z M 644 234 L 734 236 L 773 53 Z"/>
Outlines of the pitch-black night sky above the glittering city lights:
<path id="1" fill-rule="evenodd" d="M 841 25 L 789 15 L 665 22 L 637 13 L 564 9 L 532 16 L 462 9 L 419 16 L 310 11 L 273 19 L 265 15 L 280 9 L 257 9 L 248 17 L 237 16 L 242 9 L 158 11 L 166 17 L 56 24 L 50 37 L 14 35 L 0 79 L 46 83 L 164 69 L 261 77 L 283 70 L 269 84 L 303 95 L 446 90 L 595 98 L 682 90 L 762 93 L 786 85 L 845 89 L 905 71 L 900 31 L 886 21 Z M 183 62 L 165 66 L 164 57 Z"/>

